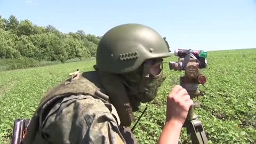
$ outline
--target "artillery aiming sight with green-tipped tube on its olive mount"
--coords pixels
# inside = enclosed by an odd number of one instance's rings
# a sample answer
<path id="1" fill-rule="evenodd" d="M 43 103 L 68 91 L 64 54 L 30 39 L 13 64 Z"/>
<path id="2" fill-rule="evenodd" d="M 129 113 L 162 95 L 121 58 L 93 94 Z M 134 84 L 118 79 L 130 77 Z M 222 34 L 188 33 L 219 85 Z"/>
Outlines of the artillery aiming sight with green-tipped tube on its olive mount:
<path id="1" fill-rule="evenodd" d="M 201 94 L 198 91 L 198 84 L 206 82 L 206 77 L 199 72 L 199 69 L 207 67 L 206 51 L 194 51 L 176 49 L 174 55 L 179 57 L 178 62 L 171 61 L 169 63 L 171 70 L 185 70 L 185 75 L 180 76 L 180 85 L 187 90 L 190 98 L 197 97 L 197 102 L 190 107 L 189 113 L 183 127 L 187 128 L 187 134 L 193 144 L 205 144 L 207 142 L 204 127 L 198 116 L 194 113 L 194 107 L 199 107 L 198 96 Z"/>

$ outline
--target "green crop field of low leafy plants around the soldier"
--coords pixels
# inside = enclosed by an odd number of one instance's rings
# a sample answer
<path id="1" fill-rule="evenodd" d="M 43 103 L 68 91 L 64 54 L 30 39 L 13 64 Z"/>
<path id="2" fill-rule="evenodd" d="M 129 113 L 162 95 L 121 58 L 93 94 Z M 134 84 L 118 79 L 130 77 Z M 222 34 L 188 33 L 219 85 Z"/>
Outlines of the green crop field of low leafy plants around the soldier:
<path id="1" fill-rule="evenodd" d="M 202 120 L 209 143 L 256 143 L 256 49 L 210 51 L 208 67 L 202 73 L 207 77 L 201 108 L 196 110 Z M 165 122 L 165 101 L 169 91 L 179 84 L 183 71 L 169 70 L 164 61 L 166 80 L 157 98 L 141 105 L 148 110 L 134 130 L 139 143 L 156 143 Z M 68 78 L 77 68 L 93 70 L 95 60 L 60 65 L 0 71 L 0 143 L 11 138 L 14 119 L 30 118 L 42 94 L 50 87 Z M 135 119 L 136 120 L 136 119 Z M 180 143 L 190 143 L 182 129 Z"/>

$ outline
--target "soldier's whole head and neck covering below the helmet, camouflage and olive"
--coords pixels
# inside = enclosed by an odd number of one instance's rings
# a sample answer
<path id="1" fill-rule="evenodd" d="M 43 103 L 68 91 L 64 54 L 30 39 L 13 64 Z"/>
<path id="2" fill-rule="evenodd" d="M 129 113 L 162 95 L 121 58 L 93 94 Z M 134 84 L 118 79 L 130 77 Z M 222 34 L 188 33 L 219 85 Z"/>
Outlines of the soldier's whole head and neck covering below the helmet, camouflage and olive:
<path id="1" fill-rule="evenodd" d="M 150 73 L 150 68 L 159 64 L 159 74 Z M 137 111 L 140 102 L 152 101 L 157 94 L 158 87 L 163 83 L 162 59 L 145 61 L 137 70 L 126 74 L 111 74 L 101 71 L 94 66 L 101 79 L 101 83 L 114 105 L 122 126 L 130 126 L 133 121 L 133 111 Z"/>

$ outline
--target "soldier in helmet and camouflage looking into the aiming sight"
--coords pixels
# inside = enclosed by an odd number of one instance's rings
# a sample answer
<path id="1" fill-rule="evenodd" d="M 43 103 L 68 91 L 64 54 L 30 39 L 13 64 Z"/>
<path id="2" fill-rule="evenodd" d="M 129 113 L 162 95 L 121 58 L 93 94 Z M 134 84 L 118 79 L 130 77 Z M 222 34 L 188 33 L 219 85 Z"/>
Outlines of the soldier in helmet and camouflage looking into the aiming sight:
<path id="1" fill-rule="evenodd" d="M 147 26 L 110 29 L 99 42 L 95 71 L 77 71 L 47 92 L 23 143 L 137 143 L 129 129 L 133 112 L 156 97 L 169 56 L 165 39 Z M 187 91 L 175 86 L 159 143 L 178 142 L 191 105 Z"/>

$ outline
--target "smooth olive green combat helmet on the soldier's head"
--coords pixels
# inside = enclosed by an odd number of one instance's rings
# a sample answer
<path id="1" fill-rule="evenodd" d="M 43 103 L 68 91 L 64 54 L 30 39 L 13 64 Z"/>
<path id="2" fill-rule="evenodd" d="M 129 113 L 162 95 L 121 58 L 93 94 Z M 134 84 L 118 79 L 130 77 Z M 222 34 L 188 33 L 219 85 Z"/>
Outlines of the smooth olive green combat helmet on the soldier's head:
<path id="1" fill-rule="evenodd" d="M 167 42 L 154 29 L 125 24 L 102 36 L 96 63 L 102 71 L 124 74 L 139 68 L 145 60 L 169 57 L 169 52 Z"/>

